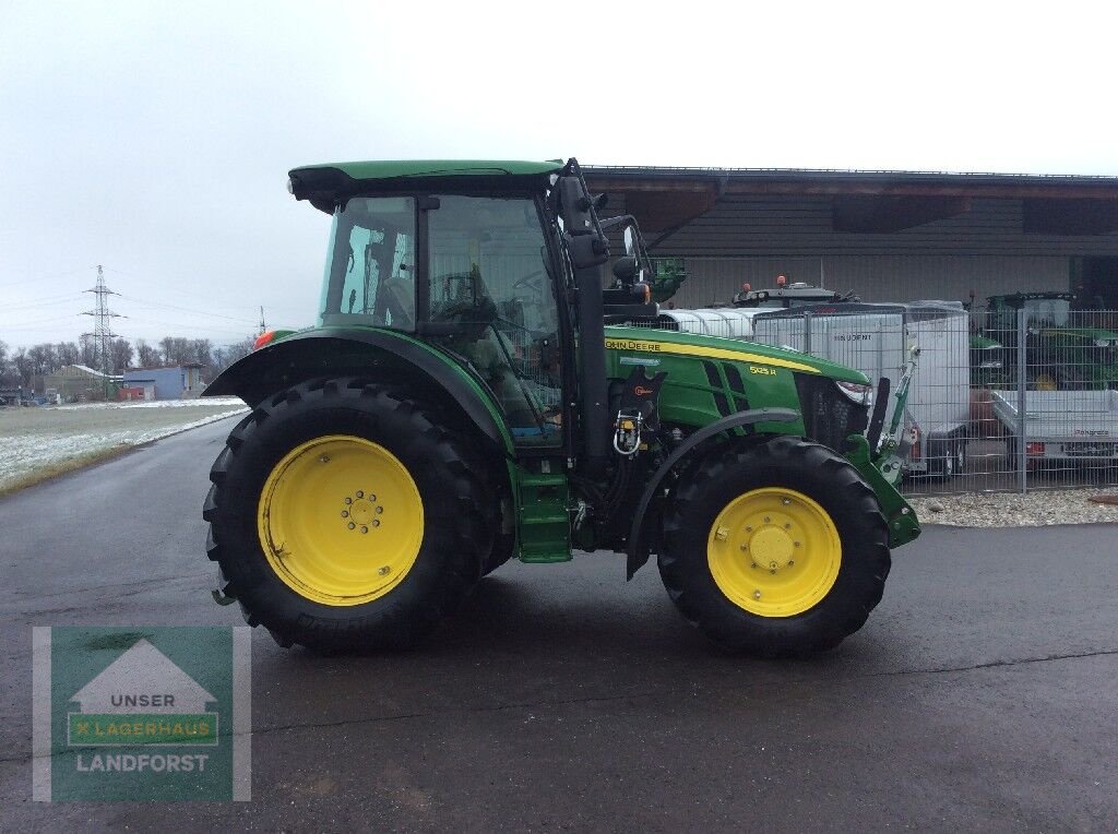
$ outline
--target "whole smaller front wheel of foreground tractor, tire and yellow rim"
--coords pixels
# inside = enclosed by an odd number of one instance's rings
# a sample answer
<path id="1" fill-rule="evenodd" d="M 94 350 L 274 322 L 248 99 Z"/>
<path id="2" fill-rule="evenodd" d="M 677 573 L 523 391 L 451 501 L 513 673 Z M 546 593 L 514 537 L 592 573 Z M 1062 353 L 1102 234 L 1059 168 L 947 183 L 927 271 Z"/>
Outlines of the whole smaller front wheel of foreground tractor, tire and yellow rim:
<path id="1" fill-rule="evenodd" d="M 825 446 L 775 437 L 717 452 L 671 502 L 661 577 L 724 648 L 762 657 L 831 648 L 881 599 L 884 518 L 858 471 Z"/>

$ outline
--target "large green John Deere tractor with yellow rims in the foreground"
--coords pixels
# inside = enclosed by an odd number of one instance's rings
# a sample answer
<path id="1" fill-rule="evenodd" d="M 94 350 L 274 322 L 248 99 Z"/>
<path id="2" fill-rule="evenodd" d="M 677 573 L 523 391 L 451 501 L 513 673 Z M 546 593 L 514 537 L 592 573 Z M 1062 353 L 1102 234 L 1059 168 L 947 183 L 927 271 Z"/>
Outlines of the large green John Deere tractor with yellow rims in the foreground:
<path id="1" fill-rule="evenodd" d="M 333 218 L 319 319 L 206 391 L 252 408 L 205 502 L 219 603 L 283 646 L 404 646 L 510 558 L 584 550 L 629 578 L 655 553 L 731 651 L 803 655 L 865 622 L 920 528 L 864 435 L 864 375 L 607 326 L 655 321 L 654 272 L 575 160 L 314 165 L 288 186 Z"/>

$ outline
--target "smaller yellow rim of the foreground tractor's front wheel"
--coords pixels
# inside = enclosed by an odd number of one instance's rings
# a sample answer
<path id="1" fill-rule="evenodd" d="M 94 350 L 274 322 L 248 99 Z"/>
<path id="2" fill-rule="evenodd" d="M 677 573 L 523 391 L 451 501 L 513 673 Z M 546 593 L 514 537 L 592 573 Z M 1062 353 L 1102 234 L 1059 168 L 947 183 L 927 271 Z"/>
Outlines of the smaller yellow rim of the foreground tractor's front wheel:
<path id="1" fill-rule="evenodd" d="M 792 617 L 834 587 L 842 542 L 826 510 L 795 490 L 767 486 L 728 503 L 707 539 L 711 576 L 750 614 Z"/>

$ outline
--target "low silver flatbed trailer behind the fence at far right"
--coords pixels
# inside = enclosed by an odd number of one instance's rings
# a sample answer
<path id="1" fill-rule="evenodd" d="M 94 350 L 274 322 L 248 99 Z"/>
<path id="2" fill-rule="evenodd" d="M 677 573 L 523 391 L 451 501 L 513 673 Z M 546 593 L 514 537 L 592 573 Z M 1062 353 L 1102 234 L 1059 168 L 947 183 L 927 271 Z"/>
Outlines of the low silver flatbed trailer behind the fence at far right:
<path id="1" fill-rule="evenodd" d="M 1118 390 L 991 391 L 994 416 L 1010 437 L 1010 462 L 1017 465 L 1024 438 L 1027 465 L 1118 464 Z M 1025 418 L 1021 419 L 1020 397 Z"/>

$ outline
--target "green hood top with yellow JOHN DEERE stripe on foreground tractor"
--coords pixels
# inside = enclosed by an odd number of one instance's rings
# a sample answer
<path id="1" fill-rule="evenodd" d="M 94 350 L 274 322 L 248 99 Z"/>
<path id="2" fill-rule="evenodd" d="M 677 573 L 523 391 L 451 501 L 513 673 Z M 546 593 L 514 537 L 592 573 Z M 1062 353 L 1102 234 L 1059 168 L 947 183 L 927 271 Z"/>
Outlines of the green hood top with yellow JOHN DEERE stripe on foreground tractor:
<path id="1" fill-rule="evenodd" d="M 632 350 L 647 353 L 671 353 L 697 358 L 727 359 L 737 362 L 755 362 L 776 368 L 787 368 L 800 373 L 818 373 L 822 377 L 870 385 L 870 379 L 861 371 L 826 359 L 800 353 L 795 350 L 771 348 L 757 342 L 739 339 L 682 333 L 651 328 L 606 328 L 608 350 Z"/>

